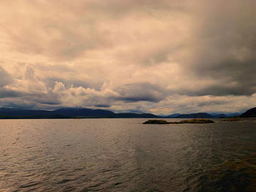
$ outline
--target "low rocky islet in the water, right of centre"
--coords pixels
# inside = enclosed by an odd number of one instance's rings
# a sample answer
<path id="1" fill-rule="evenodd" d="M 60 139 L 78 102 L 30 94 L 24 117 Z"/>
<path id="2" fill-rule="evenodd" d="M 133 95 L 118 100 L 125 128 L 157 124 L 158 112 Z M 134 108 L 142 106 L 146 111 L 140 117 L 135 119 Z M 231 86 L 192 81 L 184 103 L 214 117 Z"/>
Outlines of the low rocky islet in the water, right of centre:
<path id="1" fill-rule="evenodd" d="M 168 122 L 167 120 L 147 120 L 143 124 L 181 124 L 181 123 L 215 123 L 210 119 L 191 119 L 191 120 L 180 120 L 174 122 Z"/>

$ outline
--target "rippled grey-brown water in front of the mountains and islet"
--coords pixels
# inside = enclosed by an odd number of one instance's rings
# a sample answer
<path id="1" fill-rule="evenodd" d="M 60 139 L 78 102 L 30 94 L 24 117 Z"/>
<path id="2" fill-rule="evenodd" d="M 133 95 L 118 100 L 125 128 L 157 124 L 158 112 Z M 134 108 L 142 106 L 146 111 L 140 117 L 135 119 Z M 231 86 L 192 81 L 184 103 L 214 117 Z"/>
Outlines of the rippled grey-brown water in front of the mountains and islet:
<path id="1" fill-rule="evenodd" d="M 256 123 L 0 120 L 0 191 L 253 191 Z"/>

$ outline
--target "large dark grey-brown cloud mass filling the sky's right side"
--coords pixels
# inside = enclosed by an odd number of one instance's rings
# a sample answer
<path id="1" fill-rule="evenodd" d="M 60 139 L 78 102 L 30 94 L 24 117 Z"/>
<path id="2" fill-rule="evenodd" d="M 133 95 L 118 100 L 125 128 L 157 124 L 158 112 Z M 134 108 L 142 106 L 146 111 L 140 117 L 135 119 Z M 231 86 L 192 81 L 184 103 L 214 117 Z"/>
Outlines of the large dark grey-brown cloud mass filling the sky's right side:
<path id="1" fill-rule="evenodd" d="M 228 8 L 227 8 L 227 7 Z M 212 1 L 199 12 L 189 69 L 197 77 L 213 79 L 198 95 L 256 93 L 255 1 Z M 189 60 L 188 60 L 189 61 Z"/>

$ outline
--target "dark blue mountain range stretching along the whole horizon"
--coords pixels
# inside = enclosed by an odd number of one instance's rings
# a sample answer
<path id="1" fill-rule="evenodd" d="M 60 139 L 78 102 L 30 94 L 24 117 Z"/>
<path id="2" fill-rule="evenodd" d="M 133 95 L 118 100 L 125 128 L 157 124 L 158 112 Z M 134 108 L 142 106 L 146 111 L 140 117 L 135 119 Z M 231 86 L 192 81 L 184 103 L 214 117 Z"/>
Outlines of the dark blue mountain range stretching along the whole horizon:
<path id="1" fill-rule="evenodd" d="M 110 110 L 92 110 L 87 108 L 61 108 L 58 110 L 26 110 L 18 108 L 0 108 L 0 118 L 256 118 L 256 107 L 247 110 L 242 115 L 239 113 L 219 114 L 197 112 L 191 114 L 175 113 L 167 116 L 157 116 L 151 113 L 115 113 Z"/>

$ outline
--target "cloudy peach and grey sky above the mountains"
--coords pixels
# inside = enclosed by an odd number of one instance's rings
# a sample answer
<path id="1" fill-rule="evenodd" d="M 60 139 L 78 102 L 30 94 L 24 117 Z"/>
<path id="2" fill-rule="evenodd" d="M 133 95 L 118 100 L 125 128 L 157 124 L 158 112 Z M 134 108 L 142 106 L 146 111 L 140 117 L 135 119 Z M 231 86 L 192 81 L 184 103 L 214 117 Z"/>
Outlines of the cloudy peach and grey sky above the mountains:
<path id="1" fill-rule="evenodd" d="M 0 107 L 256 106 L 255 0 L 1 0 Z"/>

